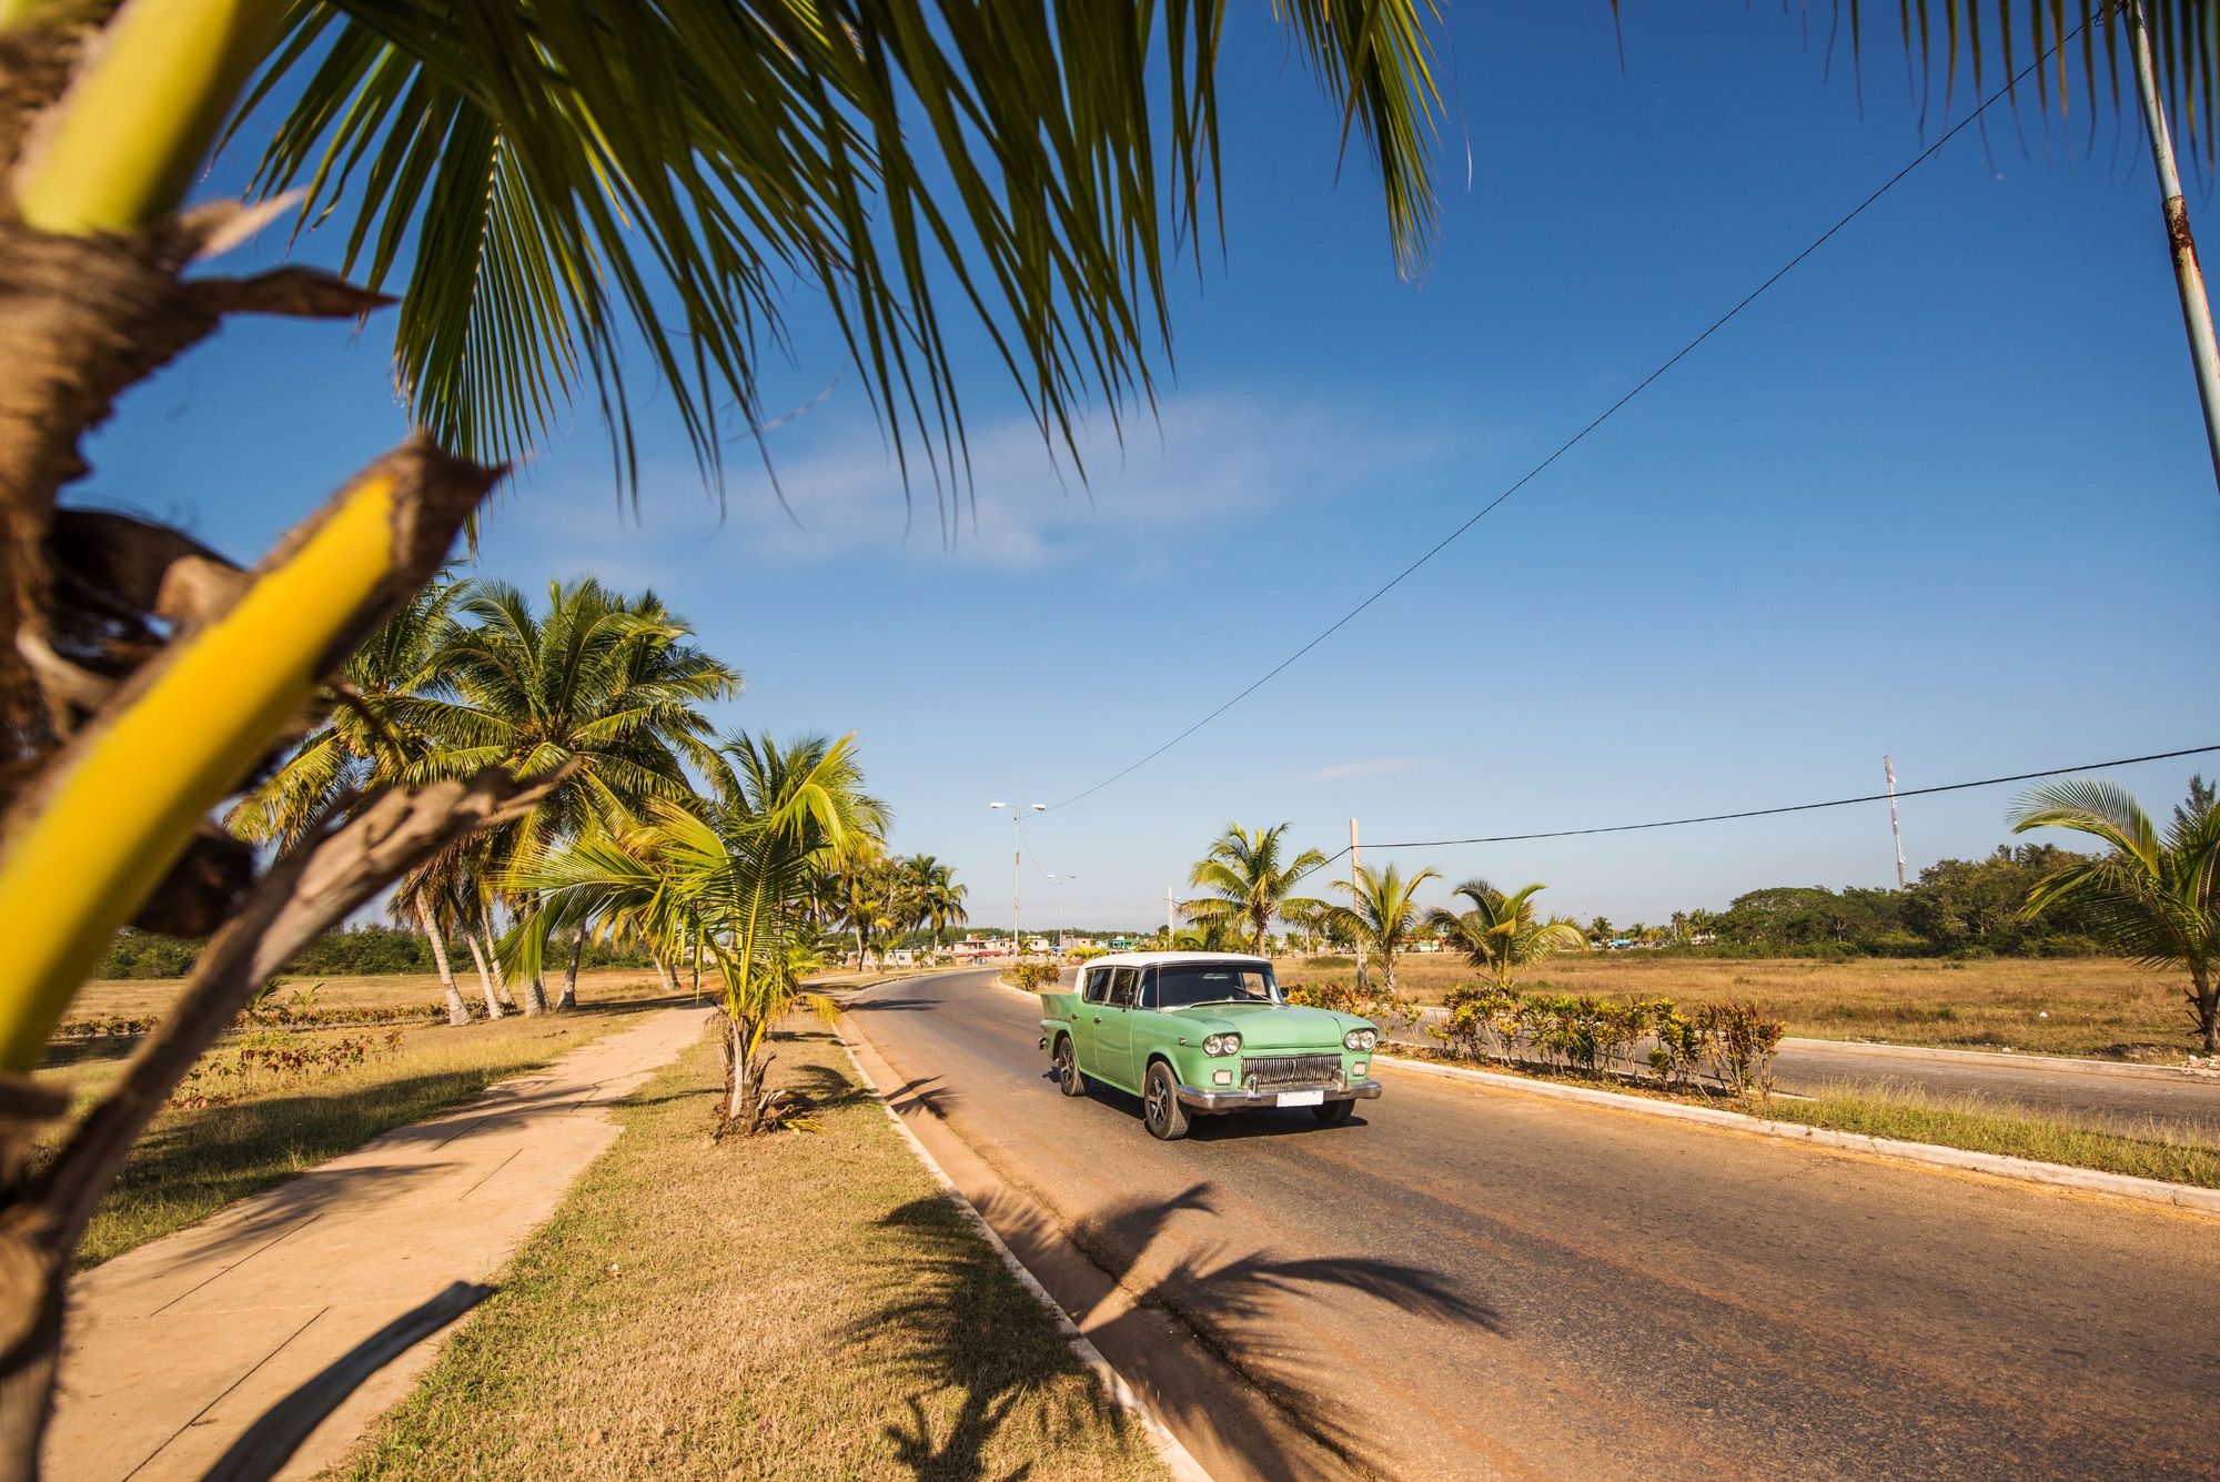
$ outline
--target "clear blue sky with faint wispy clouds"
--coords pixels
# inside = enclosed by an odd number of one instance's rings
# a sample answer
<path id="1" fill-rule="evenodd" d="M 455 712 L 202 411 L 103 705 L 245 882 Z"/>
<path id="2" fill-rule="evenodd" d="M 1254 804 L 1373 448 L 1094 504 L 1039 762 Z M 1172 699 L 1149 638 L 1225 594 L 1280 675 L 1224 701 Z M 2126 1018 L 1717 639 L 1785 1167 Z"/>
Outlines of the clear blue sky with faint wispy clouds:
<path id="1" fill-rule="evenodd" d="M 1232 20 L 1225 253 L 1179 291 L 1161 417 L 1123 455 L 1097 419 L 1086 488 L 968 337 L 977 530 L 946 546 L 797 306 L 768 402 L 833 386 L 773 435 L 799 526 L 746 473 L 719 515 L 650 395 L 639 519 L 582 406 L 500 495 L 480 570 L 653 583 L 748 674 L 724 721 L 859 732 L 895 845 L 1006 923 L 988 801 L 1068 799 L 1250 683 L 1940 131 L 1889 38 L 1860 115 L 1796 16 L 1623 24 L 1621 71 L 1603 0 L 1452 7 L 1441 235 L 1401 282 L 1336 111 Z M 1332 850 L 1352 814 L 1370 841 L 1585 828 L 1869 792 L 1883 752 L 1916 788 L 2220 741 L 2220 497 L 2149 158 L 2109 115 L 2087 153 L 2078 106 L 2060 126 L 2031 98 L 1987 133 L 1296 668 L 1028 823 L 1028 923 L 1159 918 L 1234 819 Z M 233 324 L 124 402 L 82 499 L 255 555 L 404 430 L 389 335 Z M 2187 772 L 2116 776 L 2160 805 Z M 1987 852 L 2009 801 L 1907 803 L 1911 865 Z M 1401 863 L 1621 921 L 1894 876 L 1878 805 Z"/>

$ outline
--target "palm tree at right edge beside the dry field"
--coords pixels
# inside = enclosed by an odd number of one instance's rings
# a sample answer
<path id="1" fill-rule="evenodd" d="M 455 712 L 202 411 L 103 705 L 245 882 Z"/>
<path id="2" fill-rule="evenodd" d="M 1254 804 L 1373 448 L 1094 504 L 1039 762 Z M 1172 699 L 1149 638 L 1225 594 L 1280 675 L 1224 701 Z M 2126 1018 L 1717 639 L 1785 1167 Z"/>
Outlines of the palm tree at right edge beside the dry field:
<path id="1" fill-rule="evenodd" d="M 2220 1052 L 2220 801 L 2191 788 L 2160 834 L 2125 788 L 2078 776 L 2020 801 L 2011 832 L 2034 828 L 2071 828 L 2109 852 L 2045 876 L 2025 914 L 2071 903 L 2089 934 L 2120 956 L 2187 970 L 2198 1041 L 2207 1054 Z"/>

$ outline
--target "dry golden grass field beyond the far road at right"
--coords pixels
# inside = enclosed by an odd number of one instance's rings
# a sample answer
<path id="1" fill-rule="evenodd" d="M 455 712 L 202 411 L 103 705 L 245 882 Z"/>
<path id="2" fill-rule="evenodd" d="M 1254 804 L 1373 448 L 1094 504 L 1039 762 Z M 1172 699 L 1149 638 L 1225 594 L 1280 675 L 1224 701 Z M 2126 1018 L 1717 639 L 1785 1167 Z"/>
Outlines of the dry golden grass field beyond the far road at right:
<path id="1" fill-rule="evenodd" d="M 1350 983 L 1352 967 L 1281 958 L 1281 983 Z M 1396 987 L 1439 1001 L 1479 974 L 1450 956 L 1407 956 Z M 1989 958 L 1971 963 L 1869 958 L 1694 958 L 1667 952 L 1561 956 L 1527 987 L 1565 994 L 1707 1003 L 1754 998 L 1789 1034 L 1962 1049 L 2180 1058 L 2193 1049 L 2182 985 L 2118 958 Z"/>

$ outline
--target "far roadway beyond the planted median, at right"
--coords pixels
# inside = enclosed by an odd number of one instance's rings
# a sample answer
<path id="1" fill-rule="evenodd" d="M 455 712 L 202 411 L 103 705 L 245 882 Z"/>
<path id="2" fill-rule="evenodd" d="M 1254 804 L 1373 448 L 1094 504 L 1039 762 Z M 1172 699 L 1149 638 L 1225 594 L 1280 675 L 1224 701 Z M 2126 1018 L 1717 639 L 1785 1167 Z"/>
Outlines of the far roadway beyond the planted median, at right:
<path id="1" fill-rule="evenodd" d="M 1439 1018 L 1430 1009 L 1427 1018 Z M 1401 1038 L 1430 1045 L 1423 1029 Z M 2085 1065 L 2058 1056 L 1920 1054 L 1900 1045 L 1783 1041 L 1774 1060 L 1783 1092 L 1812 1096 L 1836 1087 L 1905 1087 L 1947 1098 L 2038 1107 L 2087 1127 L 2147 1131 L 2151 1123 L 2220 1143 L 2220 1076 L 2158 1065 Z"/>

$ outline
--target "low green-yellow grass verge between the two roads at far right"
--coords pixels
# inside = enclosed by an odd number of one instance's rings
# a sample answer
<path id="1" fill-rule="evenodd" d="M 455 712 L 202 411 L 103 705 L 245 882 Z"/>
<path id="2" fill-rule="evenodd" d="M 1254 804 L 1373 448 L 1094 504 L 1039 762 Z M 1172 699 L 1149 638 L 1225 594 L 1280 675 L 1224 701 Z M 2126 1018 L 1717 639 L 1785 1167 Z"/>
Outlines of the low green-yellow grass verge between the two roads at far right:
<path id="1" fill-rule="evenodd" d="M 1954 1100 L 1898 1087 L 1851 1087 L 1796 1100 L 1776 1096 L 1752 1109 L 1776 1123 L 2220 1189 L 2220 1149 L 2158 1120 L 2136 1134 L 2098 1131 L 2060 1123 L 2034 1107 Z"/>

